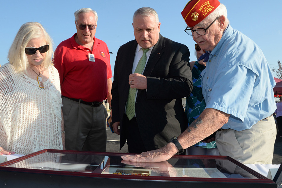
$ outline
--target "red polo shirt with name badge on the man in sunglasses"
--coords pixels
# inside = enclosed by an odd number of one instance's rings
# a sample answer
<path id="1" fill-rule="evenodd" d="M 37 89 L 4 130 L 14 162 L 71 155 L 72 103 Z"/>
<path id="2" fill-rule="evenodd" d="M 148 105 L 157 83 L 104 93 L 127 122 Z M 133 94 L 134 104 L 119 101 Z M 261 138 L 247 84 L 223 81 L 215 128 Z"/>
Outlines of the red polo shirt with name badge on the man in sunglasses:
<path id="1" fill-rule="evenodd" d="M 94 37 L 93 51 L 78 45 L 74 34 L 55 50 L 54 65 L 60 75 L 62 96 L 87 102 L 107 98 L 107 79 L 112 77 L 107 44 Z M 94 54 L 95 62 L 88 54 Z"/>

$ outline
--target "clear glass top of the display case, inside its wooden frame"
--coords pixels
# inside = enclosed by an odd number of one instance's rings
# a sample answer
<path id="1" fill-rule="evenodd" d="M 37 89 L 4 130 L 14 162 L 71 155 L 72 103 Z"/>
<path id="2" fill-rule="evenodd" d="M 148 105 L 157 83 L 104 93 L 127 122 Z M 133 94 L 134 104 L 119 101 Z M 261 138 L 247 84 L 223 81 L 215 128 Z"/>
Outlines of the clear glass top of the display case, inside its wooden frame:
<path id="1" fill-rule="evenodd" d="M 58 151 L 58 150 L 56 150 Z M 194 178 L 253 178 L 254 175 L 227 159 L 172 158 L 159 163 L 122 161 L 118 155 L 45 152 L 8 167 L 135 176 Z"/>

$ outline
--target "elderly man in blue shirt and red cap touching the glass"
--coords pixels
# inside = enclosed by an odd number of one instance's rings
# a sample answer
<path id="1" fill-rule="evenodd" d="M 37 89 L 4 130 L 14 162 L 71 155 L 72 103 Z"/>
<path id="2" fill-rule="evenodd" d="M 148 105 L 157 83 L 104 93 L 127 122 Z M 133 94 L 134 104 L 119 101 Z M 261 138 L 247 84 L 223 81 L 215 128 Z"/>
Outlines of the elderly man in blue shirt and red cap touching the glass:
<path id="1" fill-rule="evenodd" d="M 189 128 L 163 148 L 124 155 L 133 162 L 159 162 L 216 133 L 221 155 L 244 164 L 271 164 L 276 126 L 274 77 L 261 49 L 233 29 L 218 0 L 191 0 L 182 16 L 185 32 L 206 53 L 202 90 L 206 108 Z M 177 135 L 175 135 L 177 136 Z"/>

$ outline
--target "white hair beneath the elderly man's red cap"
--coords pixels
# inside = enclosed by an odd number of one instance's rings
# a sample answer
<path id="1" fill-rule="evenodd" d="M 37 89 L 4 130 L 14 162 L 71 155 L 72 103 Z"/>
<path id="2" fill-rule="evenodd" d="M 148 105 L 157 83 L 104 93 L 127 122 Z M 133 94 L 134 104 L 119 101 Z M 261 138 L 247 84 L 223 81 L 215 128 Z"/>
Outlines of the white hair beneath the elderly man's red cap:
<path id="1" fill-rule="evenodd" d="M 224 4 L 220 3 L 220 5 L 210 13 L 205 19 L 203 19 L 199 24 L 197 24 L 197 27 L 204 27 L 207 23 L 212 22 L 215 18 L 218 16 L 224 16 L 225 17 L 225 25 L 227 26 L 229 24 L 229 20 L 227 18 L 227 9 Z"/>

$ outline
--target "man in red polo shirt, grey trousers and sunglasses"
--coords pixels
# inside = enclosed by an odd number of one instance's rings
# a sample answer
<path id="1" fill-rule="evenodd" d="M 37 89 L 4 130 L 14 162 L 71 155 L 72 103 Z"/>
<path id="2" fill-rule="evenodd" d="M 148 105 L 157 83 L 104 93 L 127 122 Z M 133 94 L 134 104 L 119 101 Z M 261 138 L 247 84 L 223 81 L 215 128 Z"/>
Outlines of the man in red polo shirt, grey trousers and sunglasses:
<path id="1" fill-rule="evenodd" d="M 112 95 L 112 70 L 107 44 L 95 38 L 97 13 L 81 8 L 75 13 L 77 33 L 55 50 L 60 74 L 67 150 L 106 151 L 107 111 L 102 105 Z M 111 104 L 110 104 L 111 107 Z"/>

